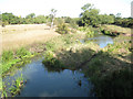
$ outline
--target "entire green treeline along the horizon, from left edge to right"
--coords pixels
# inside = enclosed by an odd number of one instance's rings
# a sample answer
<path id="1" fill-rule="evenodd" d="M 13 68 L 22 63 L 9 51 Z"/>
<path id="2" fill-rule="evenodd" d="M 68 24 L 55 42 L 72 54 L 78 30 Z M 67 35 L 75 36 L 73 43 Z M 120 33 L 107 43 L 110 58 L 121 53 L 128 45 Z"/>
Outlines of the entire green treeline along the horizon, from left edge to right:
<path id="1" fill-rule="evenodd" d="M 133 28 L 133 18 L 121 18 L 114 14 L 100 14 L 100 10 L 93 4 L 86 3 L 82 8 L 80 18 L 61 16 L 54 19 L 54 24 L 69 23 L 72 28 L 92 25 L 94 28 L 101 24 L 115 24 L 124 28 Z M 119 13 L 120 14 L 120 13 Z M 2 25 L 7 24 L 42 24 L 52 22 L 51 15 L 38 15 L 34 13 L 28 14 L 25 18 L 16 16 L 12 13 L 1 14 Z"/>

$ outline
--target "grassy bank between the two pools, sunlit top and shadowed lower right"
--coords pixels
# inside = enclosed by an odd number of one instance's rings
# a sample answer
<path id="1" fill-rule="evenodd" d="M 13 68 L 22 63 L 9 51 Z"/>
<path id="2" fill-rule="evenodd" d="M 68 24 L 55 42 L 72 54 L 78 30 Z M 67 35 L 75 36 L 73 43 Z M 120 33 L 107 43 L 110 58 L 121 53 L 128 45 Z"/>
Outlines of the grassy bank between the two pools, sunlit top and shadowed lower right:
<path id="1" fill-rule="evenodd" d="M 100 48 L 88 42 L 81 44 L 71 34 L 48 42 L 44 65 L 79 69 L 94 84 L 96 96 L 132 96 L 131 37 L 117 36 L 114 44 Z M 124 40 L 123 40 L 124 38 Z M 123 84 L 124 82 L 124 84 Z"/>

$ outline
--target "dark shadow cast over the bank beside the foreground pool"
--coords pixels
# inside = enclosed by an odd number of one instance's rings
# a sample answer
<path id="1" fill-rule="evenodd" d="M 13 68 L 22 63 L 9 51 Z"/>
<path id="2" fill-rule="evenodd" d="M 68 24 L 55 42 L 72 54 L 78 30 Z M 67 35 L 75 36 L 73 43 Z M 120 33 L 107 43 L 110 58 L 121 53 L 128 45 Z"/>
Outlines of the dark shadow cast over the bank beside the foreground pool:
<path id="1" fill-rule="evenodd" d="M 43 64 L 52 68 L 82 69 L 94 84 L 96 96 L 132 97 L 133 72 L 131 64 L 115 58 L 108 52 L 91 48 L 62 51 L 54 55 L 45 54 Z M 59 70 L 60 72 L 60 70 Z"/>

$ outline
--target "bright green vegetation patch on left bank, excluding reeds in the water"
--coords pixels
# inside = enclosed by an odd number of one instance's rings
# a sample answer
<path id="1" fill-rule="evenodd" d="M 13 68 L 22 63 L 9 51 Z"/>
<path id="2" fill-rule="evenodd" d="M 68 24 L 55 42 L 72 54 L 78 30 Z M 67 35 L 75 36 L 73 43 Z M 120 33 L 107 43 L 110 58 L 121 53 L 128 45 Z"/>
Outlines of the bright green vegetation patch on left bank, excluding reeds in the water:
<path id="1" fill-rule="evenodd" d="M 0 66 L 2 67 L 2 75 L 7 73 L 13 65 L 17 63 L 23 64 L 23 62 L 27 62 L 25 58 L 32 57 L 33 54 L 31 54 L 25 48 L 19 48 L 17 52 L 12 51 L 4 51 L 2 53 L 2 64 Z"/>

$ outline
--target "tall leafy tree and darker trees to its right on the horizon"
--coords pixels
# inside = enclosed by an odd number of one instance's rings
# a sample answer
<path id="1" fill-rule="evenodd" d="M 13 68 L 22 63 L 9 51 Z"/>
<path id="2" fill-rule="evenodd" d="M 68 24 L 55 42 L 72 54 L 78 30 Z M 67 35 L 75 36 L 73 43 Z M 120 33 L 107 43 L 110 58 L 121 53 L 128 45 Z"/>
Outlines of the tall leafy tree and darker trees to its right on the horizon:
<path id="1" fill-rule="evenodd" d="M 115 24 L 124 28 L 133 26 L 132 18 L 121 18 L 121 13 L 114 14 L 100 14 L 99 9 L 93 4 L 86 3 L 81 8 L 83 12 L 80 14 L 79 25 L 99 26 L 100 24 Z"/>

